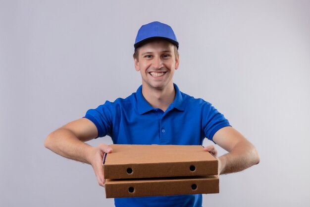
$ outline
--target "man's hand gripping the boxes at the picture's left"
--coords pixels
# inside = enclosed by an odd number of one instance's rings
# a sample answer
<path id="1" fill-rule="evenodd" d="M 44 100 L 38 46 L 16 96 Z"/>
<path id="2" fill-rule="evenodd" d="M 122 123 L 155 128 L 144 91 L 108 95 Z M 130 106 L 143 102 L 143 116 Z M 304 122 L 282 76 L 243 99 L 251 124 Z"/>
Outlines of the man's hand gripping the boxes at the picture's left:
<path id="1" fill-rule="evenodd" d="M 111 153 L 112 148 L 104 143 L 95 147 L 89 157 L 89 162 L 93 166 L 95 175 L 97 177 L 98 184 L 104 187 L 104 175 L 103 175 L 103 156 L 104 153 Z"/>

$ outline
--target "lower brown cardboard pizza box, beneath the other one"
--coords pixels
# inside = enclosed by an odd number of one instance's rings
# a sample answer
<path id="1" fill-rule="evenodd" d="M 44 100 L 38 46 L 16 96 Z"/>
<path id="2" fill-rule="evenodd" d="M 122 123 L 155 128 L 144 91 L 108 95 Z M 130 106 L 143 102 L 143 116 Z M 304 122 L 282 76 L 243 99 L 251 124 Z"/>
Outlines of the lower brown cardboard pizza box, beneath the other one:
<path id="1" fill-rule="evenodd" d="M 192 178 L 105 180 L 106 198 L 211 193 L 219 193 L 219 180 L 214 175 Z"/>

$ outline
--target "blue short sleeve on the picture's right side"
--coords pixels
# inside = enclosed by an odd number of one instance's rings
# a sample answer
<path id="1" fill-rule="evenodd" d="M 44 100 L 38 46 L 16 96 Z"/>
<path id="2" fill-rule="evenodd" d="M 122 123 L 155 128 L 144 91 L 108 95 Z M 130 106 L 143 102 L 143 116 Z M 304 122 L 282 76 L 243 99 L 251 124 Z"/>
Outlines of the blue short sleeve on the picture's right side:
<path id="1" fill-rule="evenodd" d="M 223 114 L 206 102 L 203 109 L 203 130 L 206 138 L 213 141 L 214 134 L 223 127 L 230 126 Z M 231 127 L 231 126 L 230 126 Z"/>

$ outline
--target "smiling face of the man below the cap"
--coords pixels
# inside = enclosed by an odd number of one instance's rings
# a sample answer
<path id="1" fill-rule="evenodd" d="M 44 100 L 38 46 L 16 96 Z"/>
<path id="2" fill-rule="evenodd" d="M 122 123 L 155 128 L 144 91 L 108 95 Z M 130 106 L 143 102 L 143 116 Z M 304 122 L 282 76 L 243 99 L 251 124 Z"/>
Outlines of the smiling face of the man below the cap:
<path id="1" fill-rule="evenodd" d="M 136 70 L 141 72 L 143 87 L 163 90 L 167 85 L 173 85 L 174 70 L 179 66 L 179 57 L 175 57 L 173 44 L 158 39 L 138 50 L 139 58 L 134 61 Z"/>

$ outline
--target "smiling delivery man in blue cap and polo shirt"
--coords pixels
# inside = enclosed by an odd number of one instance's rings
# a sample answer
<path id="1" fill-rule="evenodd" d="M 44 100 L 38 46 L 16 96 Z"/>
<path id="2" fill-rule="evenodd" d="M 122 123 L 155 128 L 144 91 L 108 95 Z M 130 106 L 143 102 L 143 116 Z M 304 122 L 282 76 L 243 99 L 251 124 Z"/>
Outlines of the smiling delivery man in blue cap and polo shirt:
<path id="1" fill-rule="evenodd" d="M 228 151 L 218 157 L 218 174 L 244 170 L 258 164 L 255 147 L 229 125 L 210 103 L 180 92 L 173 83 L 179 67 L 179 43 L 172 28 L 160 22 L 143 25 L 135 42 L 135 69 L 142 86 L 136 93 L 114 102 L 106 101 L 85 117 L 52 132 L 45 146 L 61 156 L 92 165 L 104 187 L 103 154 L 112 153 L 106 144 L 85 143 L 110 136 L 117 144 L 202 144 L 208 138 Z M 213 145 L 204 148 L 217 156 Z M 202 195 L 115 199 L 116 207 L 201 207 Z"/>

